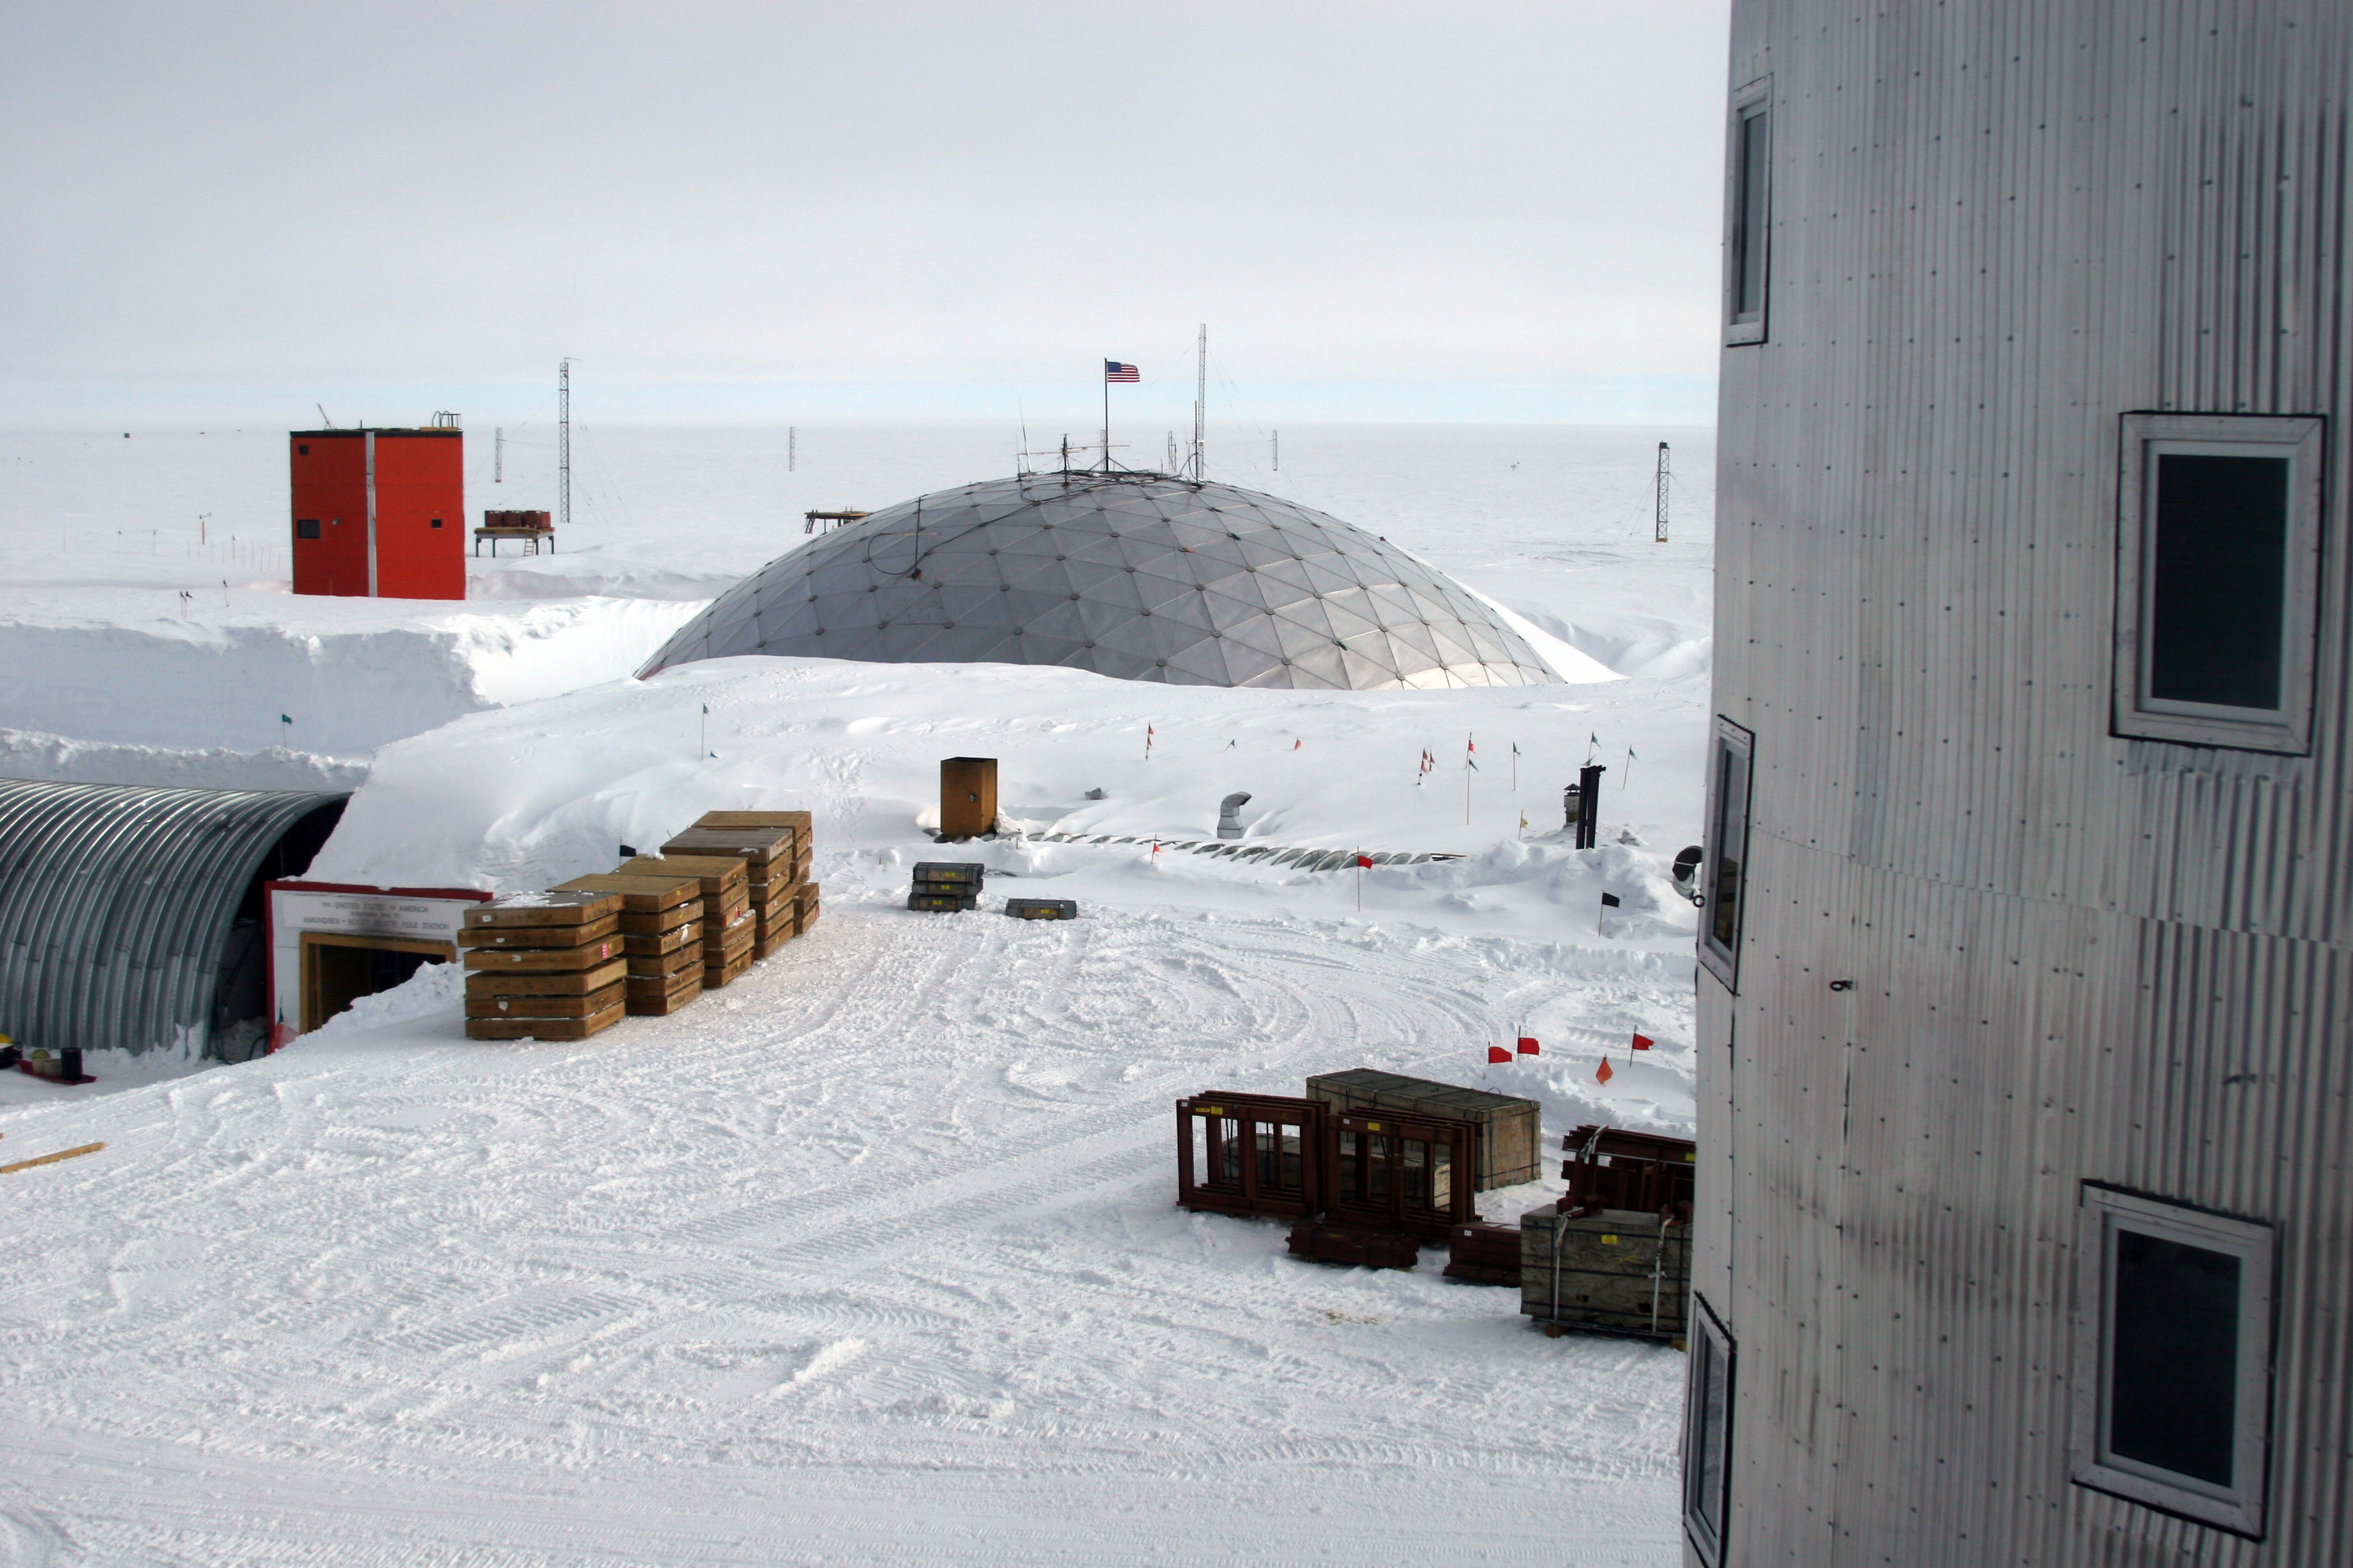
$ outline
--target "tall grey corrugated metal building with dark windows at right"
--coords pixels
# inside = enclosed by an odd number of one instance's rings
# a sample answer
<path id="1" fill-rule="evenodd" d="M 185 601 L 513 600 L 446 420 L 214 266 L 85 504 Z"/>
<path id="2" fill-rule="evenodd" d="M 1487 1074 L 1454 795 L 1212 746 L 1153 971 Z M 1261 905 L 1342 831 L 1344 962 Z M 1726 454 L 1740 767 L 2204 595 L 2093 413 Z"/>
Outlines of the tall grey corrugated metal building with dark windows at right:
<path id="1" fill-rule="evenodd" d="M 2353 7 L 1734 0 L 1694 1563 L 2353 1563 Z"/>

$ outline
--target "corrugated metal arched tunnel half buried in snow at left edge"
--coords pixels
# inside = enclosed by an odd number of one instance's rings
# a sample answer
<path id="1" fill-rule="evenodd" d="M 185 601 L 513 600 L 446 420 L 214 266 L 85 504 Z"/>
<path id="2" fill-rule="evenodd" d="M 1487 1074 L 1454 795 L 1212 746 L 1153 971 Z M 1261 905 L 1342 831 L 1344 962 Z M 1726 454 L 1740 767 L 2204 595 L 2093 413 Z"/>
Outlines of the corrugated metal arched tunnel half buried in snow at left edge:
<path id="1" fill-rule="evenodd" d="M 261 884 L 308 870 L 348 799 L 0 778 L 0 1030 L 261 1056 Z"/>

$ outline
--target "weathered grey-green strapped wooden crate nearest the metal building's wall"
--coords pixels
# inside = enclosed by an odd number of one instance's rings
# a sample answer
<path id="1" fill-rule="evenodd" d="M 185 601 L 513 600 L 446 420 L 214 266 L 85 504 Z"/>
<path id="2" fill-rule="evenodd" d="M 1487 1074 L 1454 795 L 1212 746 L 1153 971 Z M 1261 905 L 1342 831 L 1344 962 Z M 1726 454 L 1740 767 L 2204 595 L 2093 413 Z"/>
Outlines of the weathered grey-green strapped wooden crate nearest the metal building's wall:
<path id="1" fill-rule="evenodd" d="M 1631 1208 L 1520 1215 L 1520 1312 L 1541 1324 L 1680 1340 L 1689 1291 L 1689 1225 Z"/>

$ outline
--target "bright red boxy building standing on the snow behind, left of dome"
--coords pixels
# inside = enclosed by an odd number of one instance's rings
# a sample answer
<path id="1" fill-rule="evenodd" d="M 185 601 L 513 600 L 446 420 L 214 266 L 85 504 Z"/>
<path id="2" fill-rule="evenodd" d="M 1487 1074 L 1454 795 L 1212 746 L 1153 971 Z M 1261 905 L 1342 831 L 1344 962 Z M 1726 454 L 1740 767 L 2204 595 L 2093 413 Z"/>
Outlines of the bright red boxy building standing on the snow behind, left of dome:
<path id="1" fill-rule="evenodd" d="M 466 597 L 466 435 L 294 430 L 294 592 Z"/>

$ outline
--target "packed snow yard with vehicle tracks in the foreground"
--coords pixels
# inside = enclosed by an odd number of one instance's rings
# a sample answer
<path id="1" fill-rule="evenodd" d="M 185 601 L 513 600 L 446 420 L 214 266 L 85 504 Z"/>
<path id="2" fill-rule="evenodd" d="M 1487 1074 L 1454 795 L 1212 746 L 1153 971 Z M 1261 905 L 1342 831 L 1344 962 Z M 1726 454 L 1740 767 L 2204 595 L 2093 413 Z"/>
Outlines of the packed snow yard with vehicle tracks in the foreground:
<path id="1" fill-rule="evenodd" d="M 7 1561 L 1675 1561 L 1682 1356 L 1179 1213 L 1169 1103 L 1511 1088 L 1471 1065 L 1499 997 L 1602 1037 L 1687 973 L 868 900 L 584 1044 L 468 1044 L 428 969 L 275 1058 L 14 1110 L 12 1157 L 108 1147 L 7 1178 Z M 1569 1070 L 1525 1067 L 1553 1121 Z"/>

